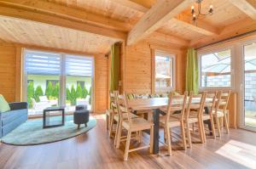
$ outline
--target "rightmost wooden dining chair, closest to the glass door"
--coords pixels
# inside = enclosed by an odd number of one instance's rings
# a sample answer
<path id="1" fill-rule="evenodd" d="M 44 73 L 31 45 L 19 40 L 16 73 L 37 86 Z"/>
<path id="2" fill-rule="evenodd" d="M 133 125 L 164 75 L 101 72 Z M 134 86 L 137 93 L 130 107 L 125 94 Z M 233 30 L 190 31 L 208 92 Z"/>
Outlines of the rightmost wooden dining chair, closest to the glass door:
<path id="1" fill-rule="evenodd" d="M 220 119 L 224 118 L 224 125 L 226 128 L 227 133 L 230 133 L 229 129 L 229 110 L 228 110 L 228 104 L 230 100 L 230 93 L 218 91 L 218 98 L 216 102 L 215 109 L 213 110 L 213 117 L 216 120 L 216 125 L 218 129 L 218 136 L 221 137 L 221 127 L 220 127 Z"/>

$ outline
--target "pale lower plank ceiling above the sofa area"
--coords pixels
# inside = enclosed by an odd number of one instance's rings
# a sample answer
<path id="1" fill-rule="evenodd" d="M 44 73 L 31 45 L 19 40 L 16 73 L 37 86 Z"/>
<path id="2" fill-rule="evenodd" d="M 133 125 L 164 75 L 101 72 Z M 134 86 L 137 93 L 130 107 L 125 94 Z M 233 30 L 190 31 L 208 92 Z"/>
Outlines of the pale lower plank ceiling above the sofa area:
<path id="1" fill-rule="evenodd" d="M 61 48 L 88 54 L 106 54 L 117 39 L 61 26 L 0 17 L 0 39 L 46 48 Z"/>

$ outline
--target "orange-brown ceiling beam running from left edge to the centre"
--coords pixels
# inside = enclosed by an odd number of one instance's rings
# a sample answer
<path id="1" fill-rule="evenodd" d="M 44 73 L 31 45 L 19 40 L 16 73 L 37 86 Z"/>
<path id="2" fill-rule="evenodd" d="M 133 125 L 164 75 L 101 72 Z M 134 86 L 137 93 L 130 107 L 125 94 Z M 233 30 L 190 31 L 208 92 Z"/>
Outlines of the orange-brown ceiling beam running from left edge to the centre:
<path id="1" fill-rule="evenodd" d="M 17 8 L 15 5 L 7 5 L 0 2 L 0 15 L 19 18 L 23 20 L 32 20 L 49 25 L 57 25 L 78 31 L 86 31 L 103 37 L 113 37 L 117 40 L 125 40 L 127 35 L 123 31 L 114 31 L 102 28 L 96 25 L 90 25 L 75 20 L 67 20 L 56 15 L 40 13 L 37 10 L 28 10 L 26 8 Z"/>

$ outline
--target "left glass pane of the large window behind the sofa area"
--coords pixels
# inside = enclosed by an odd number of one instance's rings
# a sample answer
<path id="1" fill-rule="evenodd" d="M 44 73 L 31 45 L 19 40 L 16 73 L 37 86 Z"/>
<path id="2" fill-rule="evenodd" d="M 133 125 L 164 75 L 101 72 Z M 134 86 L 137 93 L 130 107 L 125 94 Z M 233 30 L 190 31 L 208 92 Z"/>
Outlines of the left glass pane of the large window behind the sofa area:
<path id="1" fill-rule="evenodd" d="M 45 108 L 59 105 L 61 56 L 30 50 L 25 54 L 28 115 L 42 114 Z"/>

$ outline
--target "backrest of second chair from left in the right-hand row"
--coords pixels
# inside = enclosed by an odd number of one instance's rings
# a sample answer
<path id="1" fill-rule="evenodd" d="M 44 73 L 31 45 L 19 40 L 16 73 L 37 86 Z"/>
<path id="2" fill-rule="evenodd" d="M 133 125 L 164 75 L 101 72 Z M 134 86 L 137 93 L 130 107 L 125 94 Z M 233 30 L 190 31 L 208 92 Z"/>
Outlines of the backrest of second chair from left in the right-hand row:
<path id="1" fill-rule="evenodd" d="M 189 102 L 187 106 L 185 118 L 189 118 L 190 110 L 196 110 L 197 116 L 200 117 L 205 107 L 207 92 L 194 94 L 192 91 L 189 93 Z"/>

